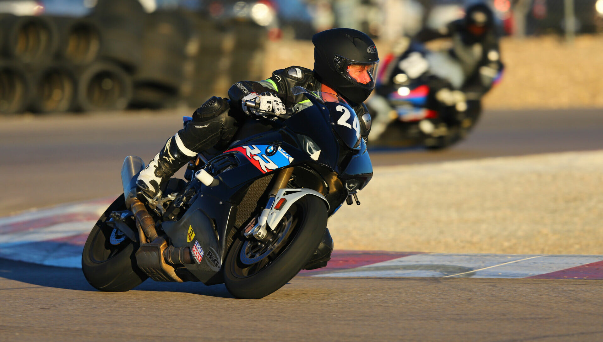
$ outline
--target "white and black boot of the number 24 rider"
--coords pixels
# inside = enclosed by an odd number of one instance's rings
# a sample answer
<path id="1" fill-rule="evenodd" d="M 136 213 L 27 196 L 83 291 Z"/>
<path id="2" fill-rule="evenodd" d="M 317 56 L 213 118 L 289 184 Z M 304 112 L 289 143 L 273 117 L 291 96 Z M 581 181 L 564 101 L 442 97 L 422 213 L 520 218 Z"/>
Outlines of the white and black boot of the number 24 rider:
<path id="1" fill-rule="evenodd" d="M 180 167 L 185 166 L 197 153 L 184 146 L 178 134 L 170 137 L 165 146 L 145 169 L 140 171 L 136 185 L 151 199 L 161 193 L 163 182 L 167 181 Z"/>

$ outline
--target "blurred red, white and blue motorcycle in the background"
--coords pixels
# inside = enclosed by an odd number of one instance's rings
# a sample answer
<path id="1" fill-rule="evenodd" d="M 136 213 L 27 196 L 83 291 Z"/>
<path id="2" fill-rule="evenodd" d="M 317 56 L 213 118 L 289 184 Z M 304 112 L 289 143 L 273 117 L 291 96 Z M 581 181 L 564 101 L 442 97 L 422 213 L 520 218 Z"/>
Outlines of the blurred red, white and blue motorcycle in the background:
<path id="1" fill-rule="evenodd" d="M 482 92 L 459 89 L 460 64 L 447 51 L 428 51 L 418 42 L 395 58 L 388 55 L 367 101 L 373 114 L 369 146 L 447 148 L 463 140 L 481 115 Z M 481 75 L 486 72 L 488 75 Z M 500 81 L 502 64 L 482 67 L 479 77 Z"/>

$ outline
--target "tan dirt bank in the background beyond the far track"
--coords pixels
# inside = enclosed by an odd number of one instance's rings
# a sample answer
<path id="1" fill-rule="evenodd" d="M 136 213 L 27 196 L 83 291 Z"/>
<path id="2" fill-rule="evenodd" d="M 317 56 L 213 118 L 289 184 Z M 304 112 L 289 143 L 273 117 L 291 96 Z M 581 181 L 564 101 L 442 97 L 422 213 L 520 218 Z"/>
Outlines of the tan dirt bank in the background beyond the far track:
<path id="1" fill-rule="evenodd" d="M 392 45 L 376 42 L 380 57 Z M 309 41 L 268 43 L 265 71 L 290 65 L 312 69 Z M 504 38 L 502 81 L 484 98 L 488 109 L 603 107 L 603 36 L 578 36 L 572 45 L 560 37 Z"/>

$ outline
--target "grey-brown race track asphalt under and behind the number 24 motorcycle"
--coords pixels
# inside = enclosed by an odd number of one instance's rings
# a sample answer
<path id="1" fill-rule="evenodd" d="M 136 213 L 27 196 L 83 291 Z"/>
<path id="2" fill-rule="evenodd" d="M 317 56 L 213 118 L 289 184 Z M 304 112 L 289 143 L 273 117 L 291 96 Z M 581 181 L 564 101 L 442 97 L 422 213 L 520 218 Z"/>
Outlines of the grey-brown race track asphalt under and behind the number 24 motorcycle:
<path id="1" fill-rule="evenodd" d="M 0 217 L 121 193 L 186 113 L 0 118 Z M 452 149 L 373 151 L 375 165 L 603 146 L 601 110 L 488 111 Z M 0 340 L 601 341 L 602 281 L 297 276 L 260 300 L 147 281 L 101 293 L 81 270 L 0 260 Z"/>

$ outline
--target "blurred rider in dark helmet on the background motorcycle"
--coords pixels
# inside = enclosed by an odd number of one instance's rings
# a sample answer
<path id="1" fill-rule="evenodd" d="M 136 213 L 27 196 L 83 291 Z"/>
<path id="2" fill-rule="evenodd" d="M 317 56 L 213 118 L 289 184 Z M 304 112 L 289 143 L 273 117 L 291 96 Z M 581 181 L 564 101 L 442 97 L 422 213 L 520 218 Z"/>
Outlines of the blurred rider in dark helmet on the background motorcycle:
<path id="1" fill-rule="evenodd" d="M 448 124 L 456 123 L 456 113 L 467 111 L 467 101 L 479 106 L 479 100 L 499 79 L 503 69 L 500 34 L 494 13 L 487 4 L 469 5 L 462 19 L 438 30 L 424 28 L 413 37 L 413 44 L 438 38 L 450 38 L 452 47 L 443 52 L 423 49 L 425 57 L 409 49 L 391 58 L 391 62 L 384 66 L 387 72 L 377 81 L 377 95 L 370 104 L 377 112 L 371 139 L 385 130 L 391 111 L 385 98 L 391 92 L 391 85 L 397 82 L 394 78 L 400 73 L 405 73 L 409 81 L 429 73 L 427 107 L 440 113 L 440 120 Z M 481 109 L 470 110 L 479 112 Z"/>

